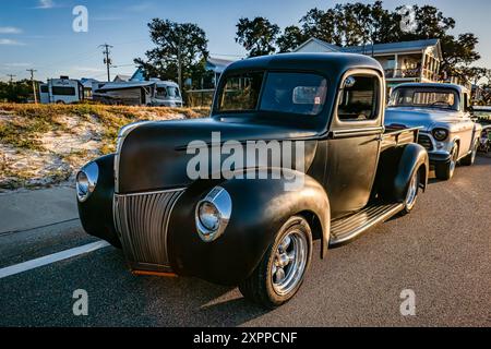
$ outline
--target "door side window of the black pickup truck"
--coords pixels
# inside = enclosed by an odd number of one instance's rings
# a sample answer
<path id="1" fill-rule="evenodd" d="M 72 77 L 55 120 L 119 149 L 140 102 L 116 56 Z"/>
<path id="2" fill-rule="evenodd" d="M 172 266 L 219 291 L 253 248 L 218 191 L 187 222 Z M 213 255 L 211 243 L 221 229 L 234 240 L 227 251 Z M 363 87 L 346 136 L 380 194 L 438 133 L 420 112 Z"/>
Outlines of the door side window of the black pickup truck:
<path id="1" fill-rule="evenodd" d="M 340 121 L 374 120 L 379 113 L 379 79 L 350 75 L 343 83 L 337 115 Z"/>

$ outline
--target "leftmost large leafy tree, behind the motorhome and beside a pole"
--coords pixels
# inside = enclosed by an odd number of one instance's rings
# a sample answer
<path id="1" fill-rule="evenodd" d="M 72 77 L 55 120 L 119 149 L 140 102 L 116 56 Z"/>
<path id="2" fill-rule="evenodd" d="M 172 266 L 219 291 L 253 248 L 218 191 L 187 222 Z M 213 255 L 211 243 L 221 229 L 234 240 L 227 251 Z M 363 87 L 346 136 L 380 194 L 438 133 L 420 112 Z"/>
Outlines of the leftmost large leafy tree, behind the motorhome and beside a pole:
<path id="1" fill-rule="evenodd" d="M 145 52 L 146 59 L 136 58 L 146 77 L 182 82 L 204 72 L 204 61 L 208 57 L 205 32 L 192 23 L 176 23 L 154 19 L 148 23 L 154 49 Z M 199 81 L 194 81 L 199 84 Z"/>

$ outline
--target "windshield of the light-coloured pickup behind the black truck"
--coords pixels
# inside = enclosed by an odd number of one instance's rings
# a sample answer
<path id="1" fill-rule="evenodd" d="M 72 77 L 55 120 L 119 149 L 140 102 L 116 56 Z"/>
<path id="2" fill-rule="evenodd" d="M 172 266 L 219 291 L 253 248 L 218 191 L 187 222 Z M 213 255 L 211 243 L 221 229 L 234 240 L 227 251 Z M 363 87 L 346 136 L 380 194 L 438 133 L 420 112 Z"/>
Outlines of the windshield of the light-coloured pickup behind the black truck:
<path id="1" fill-rule="evenodd" d="M 424 107 L 458 110 L 458 94 L 452 88 L 399 87 L 391 96 L 388 107 Z"/>

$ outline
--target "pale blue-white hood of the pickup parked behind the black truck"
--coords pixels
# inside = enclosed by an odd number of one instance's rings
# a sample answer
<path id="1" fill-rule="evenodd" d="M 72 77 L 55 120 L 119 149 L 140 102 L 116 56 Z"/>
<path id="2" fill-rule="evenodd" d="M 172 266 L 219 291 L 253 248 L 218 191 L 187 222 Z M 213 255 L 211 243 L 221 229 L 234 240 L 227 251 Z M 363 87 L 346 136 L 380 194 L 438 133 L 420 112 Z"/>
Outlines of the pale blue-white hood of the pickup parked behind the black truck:
<path id="1" fill-rule="evenodd" d="M 462 113 L 453 110 L 411 107 L 387 108 L 385 110 L 386 127 L 423 127 L 423 131 L 430 132 L 436 125 L 451 127 L 459 121 L 462 121 Z"/>

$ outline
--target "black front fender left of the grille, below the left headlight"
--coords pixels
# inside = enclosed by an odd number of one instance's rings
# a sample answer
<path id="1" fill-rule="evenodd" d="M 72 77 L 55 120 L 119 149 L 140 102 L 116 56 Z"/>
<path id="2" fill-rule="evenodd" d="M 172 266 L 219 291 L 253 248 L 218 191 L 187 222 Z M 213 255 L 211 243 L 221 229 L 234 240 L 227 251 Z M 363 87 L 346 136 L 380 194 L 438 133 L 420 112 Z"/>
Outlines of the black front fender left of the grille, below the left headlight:
<path id="1" fill-rule="evenodd" d="M 79 202 L 80 220 L 82 221 L 82 227 L 88 234 L 106 240 L 117 248 L 121 248 L 112 218 L 115 155 L 103 156 L 94 161 L 99 168 L 99 177 L 91 196 L 83 203 Z"/>

